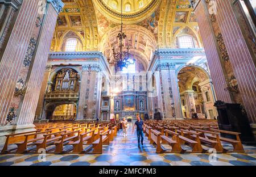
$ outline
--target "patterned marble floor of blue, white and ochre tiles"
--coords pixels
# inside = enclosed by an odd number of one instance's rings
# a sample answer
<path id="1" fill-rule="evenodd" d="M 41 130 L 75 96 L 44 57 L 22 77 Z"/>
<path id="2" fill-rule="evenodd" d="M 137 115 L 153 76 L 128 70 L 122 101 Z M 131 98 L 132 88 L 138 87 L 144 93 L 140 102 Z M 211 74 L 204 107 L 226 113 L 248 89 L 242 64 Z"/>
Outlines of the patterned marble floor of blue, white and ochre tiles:
<path id="1" fill-rule="evenodd" d="M 0 166 L 255 166 L 256 146 L 244 146 L 245 153 L 217 154 L 156 154 L 155 146 L 150 145 L 147 137 L 144 145 L 138 147 L 136 131 L 128 137 L 122 136 L 122 130 L 109 146 L 104 146 L 103 154 L 46 154 L 44 160 L 40 154 L 5 154 L 0 155 Z M 228 148 L 231 145 L 226 144 Z"/>

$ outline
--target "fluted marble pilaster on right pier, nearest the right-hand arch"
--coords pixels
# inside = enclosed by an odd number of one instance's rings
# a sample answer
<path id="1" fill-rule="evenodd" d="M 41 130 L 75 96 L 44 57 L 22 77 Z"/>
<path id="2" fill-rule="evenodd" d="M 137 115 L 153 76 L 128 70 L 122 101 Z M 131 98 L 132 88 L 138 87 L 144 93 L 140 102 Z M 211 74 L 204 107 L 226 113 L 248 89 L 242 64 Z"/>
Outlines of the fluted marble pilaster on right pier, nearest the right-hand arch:
<path id="1" fill-rule="evenodd" d="M 217 99 L 226 103 L 232 103 L 229 91 L 225 91 L 227 87 L 226 79 L 228 79 L 228 77 L 224 69 L 220 48 L 218 47 L 214 28 L 212 26 L 212 20 L 214 19 L 210 19 L 205 0 L 199 1 L 195 9 L 195 14 L 199 24 L 200 34 L 202 36 Z"/>

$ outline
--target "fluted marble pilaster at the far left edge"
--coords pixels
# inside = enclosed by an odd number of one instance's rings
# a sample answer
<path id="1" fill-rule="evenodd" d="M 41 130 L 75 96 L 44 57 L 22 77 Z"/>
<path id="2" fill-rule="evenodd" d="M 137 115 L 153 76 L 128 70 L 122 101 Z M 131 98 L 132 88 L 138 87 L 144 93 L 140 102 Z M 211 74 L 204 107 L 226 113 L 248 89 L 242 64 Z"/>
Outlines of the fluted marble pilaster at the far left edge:
<path id="1" fill-rule="evenodd" d="M 23 1 L 0 58 L 0 124 L 3 125 L 38 14 L 39 0 Z"/>

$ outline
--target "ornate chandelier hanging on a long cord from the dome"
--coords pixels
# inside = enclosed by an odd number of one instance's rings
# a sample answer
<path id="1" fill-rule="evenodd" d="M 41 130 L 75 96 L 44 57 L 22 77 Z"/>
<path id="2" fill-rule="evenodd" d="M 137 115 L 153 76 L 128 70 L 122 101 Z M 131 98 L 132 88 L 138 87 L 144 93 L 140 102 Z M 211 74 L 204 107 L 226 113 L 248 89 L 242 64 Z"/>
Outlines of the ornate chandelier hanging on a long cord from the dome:
<path id="1" fill-rule="evenodd" d="M 117 35 L 119 46 L 117 51 L 115 50 L 115 45 L 112 49 L 114 60 L 111 61 L 110 58 L 108 58 L 109 64 L 115 66 L 115 71 L 122 71 L 123 68 L 128 68 L 129 65 L 135 64 L 136 61 L 135 58 L 133 58 L 133 61 L 130 60 L 131 54 L 129 53 L 129 41 L 127 49 L 123 51 L 123 41 L 125 41 L 126 37 L 126 34 L 123 32 L 123 1 L 121 1 L 121 30 Z"/>

